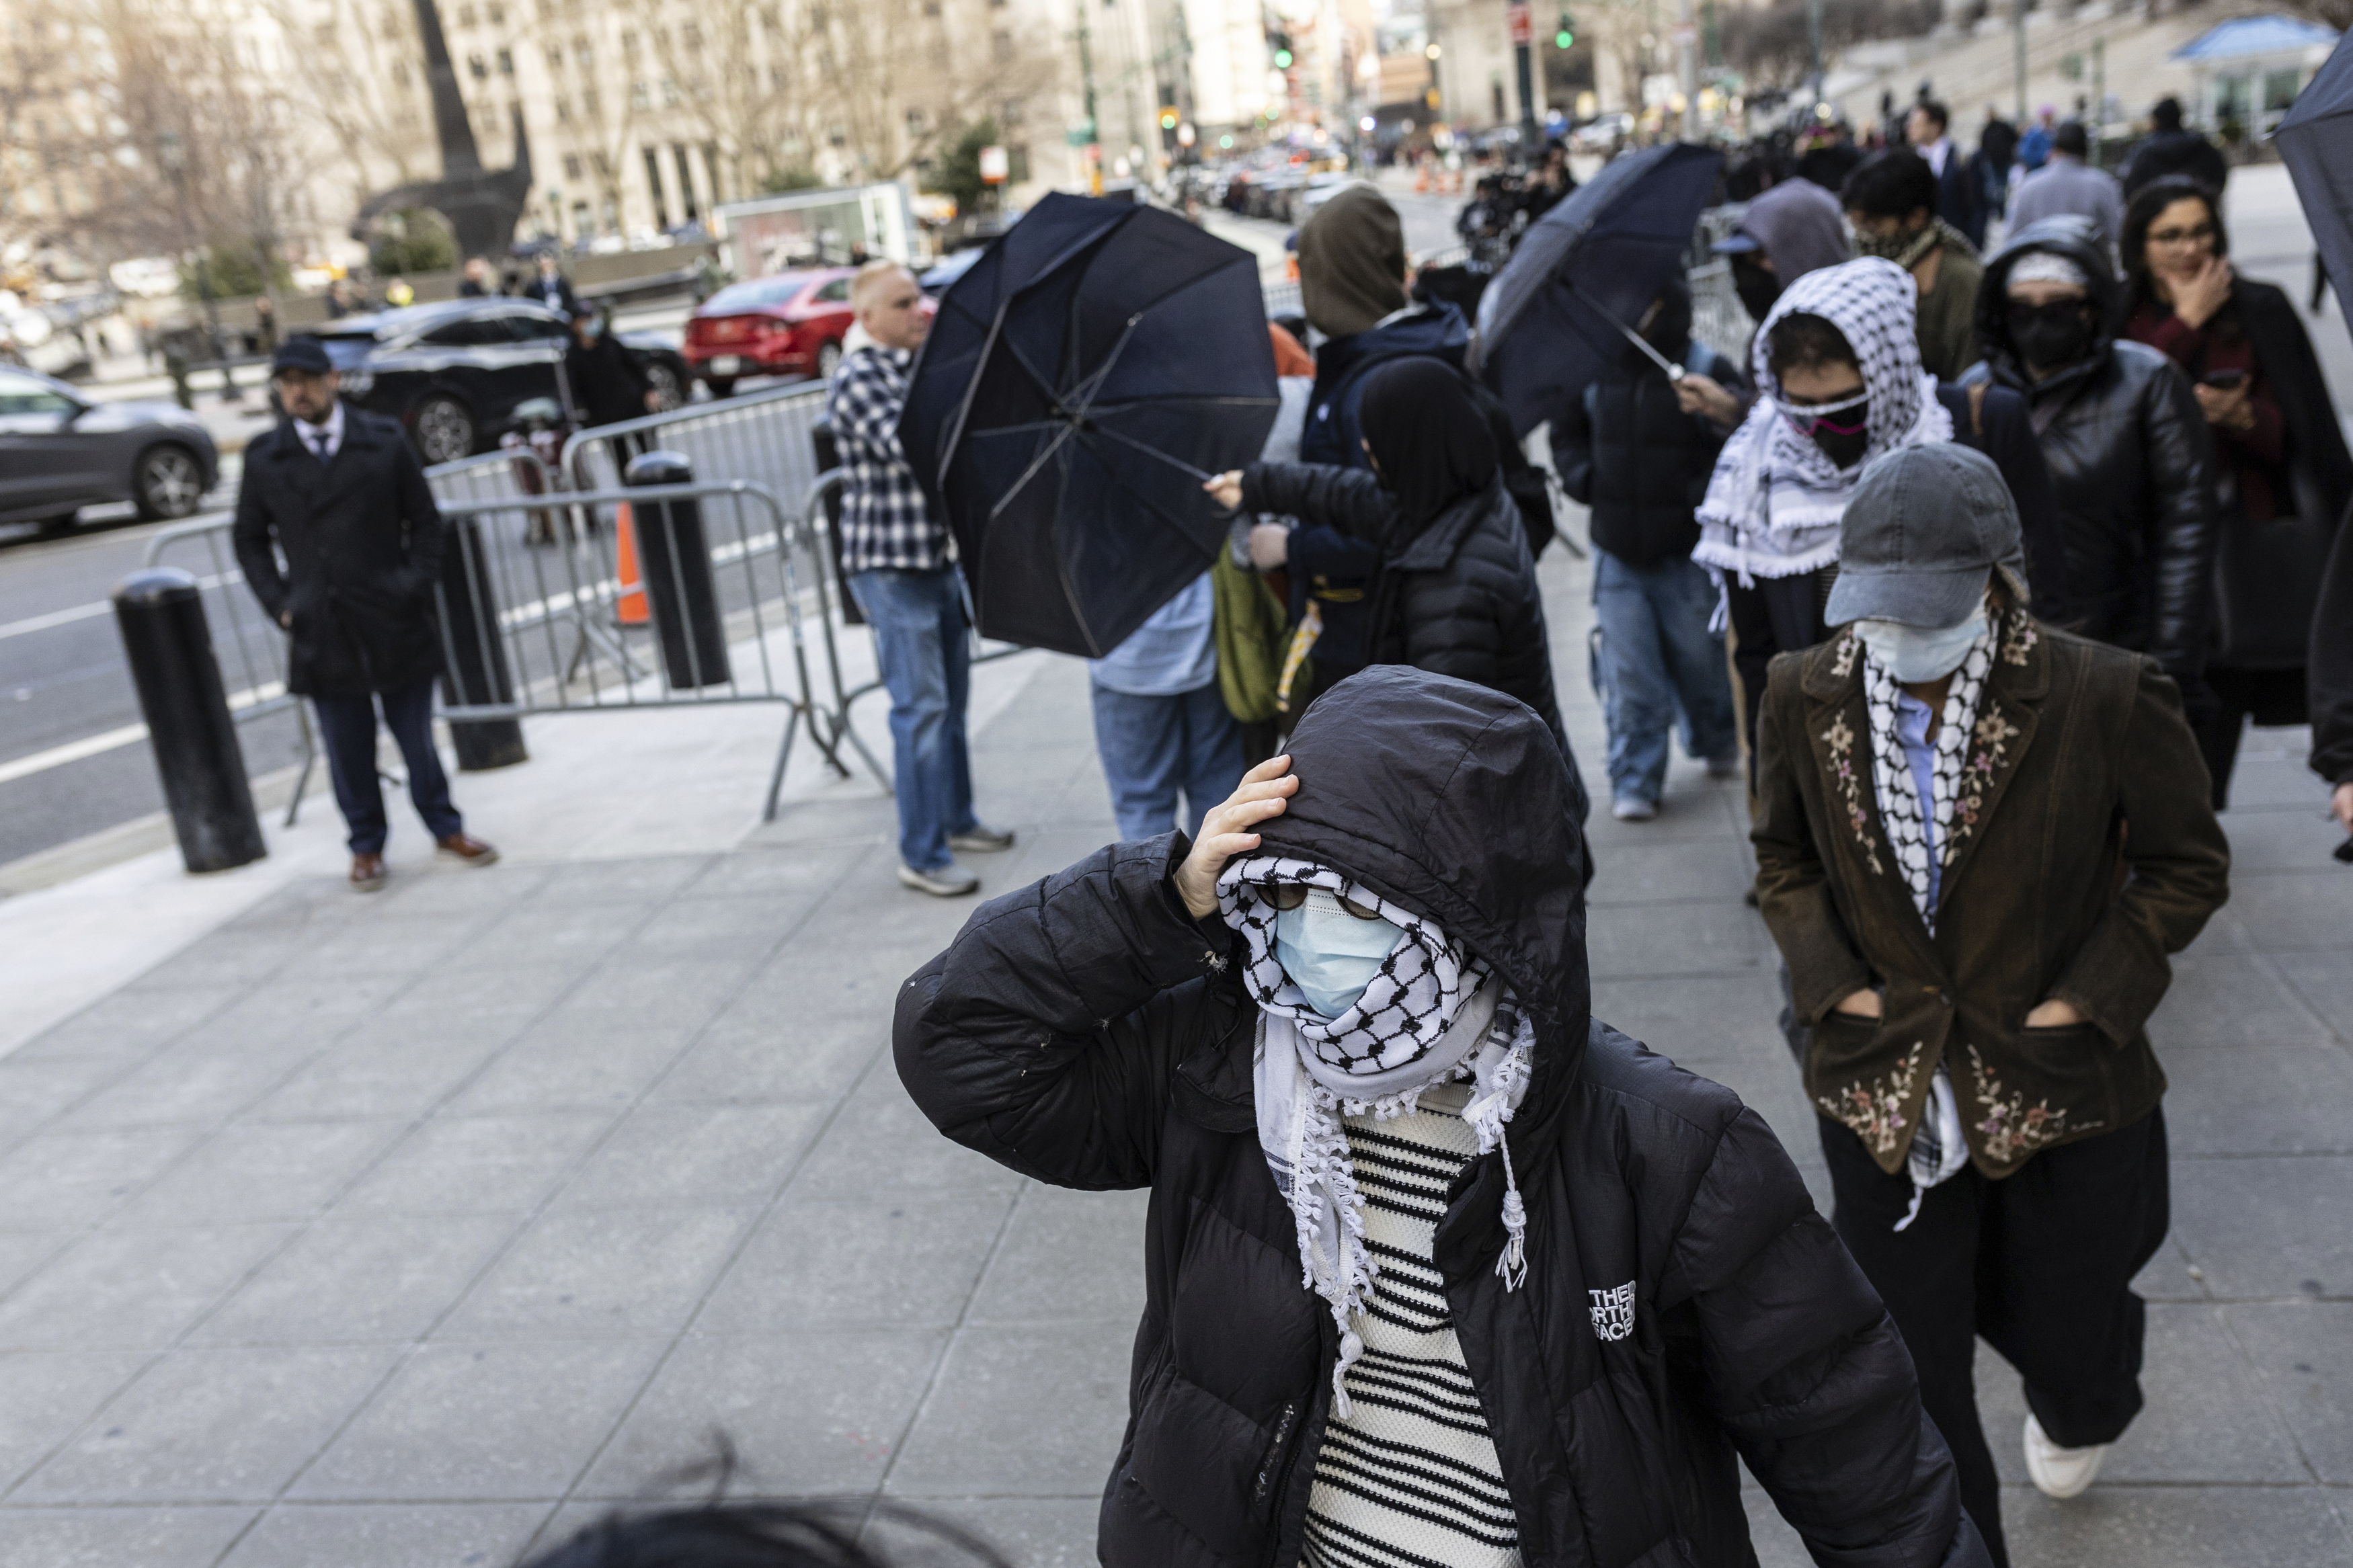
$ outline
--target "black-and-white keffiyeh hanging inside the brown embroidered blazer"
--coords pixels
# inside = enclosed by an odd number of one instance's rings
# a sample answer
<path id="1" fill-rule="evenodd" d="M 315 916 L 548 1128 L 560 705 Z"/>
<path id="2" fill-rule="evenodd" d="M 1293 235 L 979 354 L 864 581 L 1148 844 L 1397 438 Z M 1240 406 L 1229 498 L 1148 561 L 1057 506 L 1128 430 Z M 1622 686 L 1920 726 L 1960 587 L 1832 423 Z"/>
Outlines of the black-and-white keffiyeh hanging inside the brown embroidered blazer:
<path id="1" fill-rule="evenodd" d="M 1967 743 L 1977 729 L 1977 705 L 1986 691 L 1986 672 L 1993 670 L 1993 649 L 2000 635 L 2000 611 L 1988 614 L 1986 630 L 1977 635 L 1960 668 L 1953 670 L 1953 684 L 1944 693 L 1944 712 L 1937 717 L 1934 773 L 1927 802 L 1920 799 L 1920 788 L 1913 783 L 1911 757 L 1904 755 L 1904 736 L 1897 729 L 1897 696 L 1901 684 L 1871 654 L 1871 644 L 1857 637 L 1864 649 L 1864 705 L 1871 717 L 1871 785 L 1880 797 L 1880 825 L 1887 827 L 1887 844 L 1897 856 L 1897 870 L 1904 872 L 1904 886 L 1911 891 L 1913 907 L 1920 910 L 1920 922 L 1932 936 L 1937 931 L 1937 905 L 1929 898 L 1929 835 L 1922 832 L 1922 823 L 1934 823 L 1937 827 L 1937 870 L 1941 877 L 1953 867 L 1953 804 L 1960 799 Z M 1960 1175 L 1965 1164 L 1969 1164 L 1969 1145 L 1960 1131 L 1953 1077 L 1939 1063 L 1937 1074 L 1929 1079 L 1920 1126 L 1913 1128 L 1911 1152 L 1906 1154 L 1913 1201 L 1894 1227 L 1908 1227 L 1920 1215 L 1920 1199 L 1927 1197 L 1927 1190 Z"/>

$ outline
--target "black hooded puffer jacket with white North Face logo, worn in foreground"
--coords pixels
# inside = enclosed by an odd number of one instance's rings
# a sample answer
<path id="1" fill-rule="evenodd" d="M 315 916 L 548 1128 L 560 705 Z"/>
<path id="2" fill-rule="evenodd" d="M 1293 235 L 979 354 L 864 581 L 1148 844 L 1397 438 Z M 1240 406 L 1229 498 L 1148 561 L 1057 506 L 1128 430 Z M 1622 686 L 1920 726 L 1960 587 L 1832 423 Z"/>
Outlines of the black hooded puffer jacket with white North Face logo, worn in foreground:
<path id="1" fill-rule="evenodd" d="M 1753 1566 L 1739 1460 L 1824 1563 L 1986 1563 L 1911 1356 L 1781 1145 L 1591 1018 L 1584 844 L 1544 724 L 1374 668 L 1308 710 L 1292 757 L 1264 853 L 1421 910 L 1537 1027 L 1511 1121 L 1527 1281 L 1494 1272 L 1501 1154 L 1464 1168 L 1435 1237 L 1527 1568 Z M 1337 1335 L 1259 1150 L 1235 938 L 1169 882 L 1186 849 L 1115 844 L 981 905 L 899 992 L 899 1077 L 1014 1171 L 1153 1190 L 1101 1561 L 1289 1568 Z M 1633 1328 L 1602 1340 L 1595 1300 L 1619 1288 Z"/>

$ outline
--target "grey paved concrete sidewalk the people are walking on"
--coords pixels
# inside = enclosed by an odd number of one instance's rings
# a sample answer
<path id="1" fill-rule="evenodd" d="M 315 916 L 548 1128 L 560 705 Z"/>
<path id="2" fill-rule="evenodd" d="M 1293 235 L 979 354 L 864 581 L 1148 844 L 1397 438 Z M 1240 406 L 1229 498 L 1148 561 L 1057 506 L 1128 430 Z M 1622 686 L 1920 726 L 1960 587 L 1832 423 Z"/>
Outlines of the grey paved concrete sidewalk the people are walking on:
<path id="1" fill-rule="evenodd" d="M 1595 780 L 1586 576 L 1544 576 Z M 1005 891 L 1111 816 L 1080 665 L 991 665 L 981 710 Z M 320 802 L 252 896 L 144 863 L 0 910 L 0 994 L 64 961 L 52 910 L 153 947 L 0 1060 L 0 1568 L 496 1566 L 715 1432 L 739 1493 L 885 1493 L 1092 1561 L 1144 1199 L 1038 1187 L 908 1105 L 892 994 L 972 905 L 894 884 L 871 783 L 795 776 L 751 820 L 769 712 L 534 722 L 536 762 L 459 780 L 508 846 L 487 872 L 416 870 L 395 806 L 393 889 L 355 898 Z M 2235 896 L 2155 1025 L 2174 1237 L 2099 1488 L 2019 1483 L 2017 1380 L 1981 1359 L 2021 1568 L 2353 1556 L 2353 872 L 2282 741 L 2242 762 Z M 1678 759 L 1666 816 L 1593 839 L 1595 1011 L 1737 1086 L 1826 1199 L 1739 795 Z M 1802 1563 L 1753 1502 L 1765 1561 Z"/>

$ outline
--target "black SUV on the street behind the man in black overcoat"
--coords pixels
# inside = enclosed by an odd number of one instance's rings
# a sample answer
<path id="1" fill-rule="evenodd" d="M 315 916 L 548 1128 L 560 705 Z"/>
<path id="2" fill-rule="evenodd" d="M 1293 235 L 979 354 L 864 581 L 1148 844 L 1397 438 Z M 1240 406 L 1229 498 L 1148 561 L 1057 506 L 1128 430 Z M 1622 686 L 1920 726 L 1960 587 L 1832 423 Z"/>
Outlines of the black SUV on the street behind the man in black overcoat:
<path id="1" fill-rule="evenodd" d="M 661 393 L 685 402 L 687 362 L 659 334 L 619 334 Z M 344 400 L 391 414 L 431 463 L 489 451 L 534 397 L 572 407 L 565 386 L 565 317 L 525 299 L 452 299 L 374 315 L 346 315 L 318 329 L 344 374 Z"/>

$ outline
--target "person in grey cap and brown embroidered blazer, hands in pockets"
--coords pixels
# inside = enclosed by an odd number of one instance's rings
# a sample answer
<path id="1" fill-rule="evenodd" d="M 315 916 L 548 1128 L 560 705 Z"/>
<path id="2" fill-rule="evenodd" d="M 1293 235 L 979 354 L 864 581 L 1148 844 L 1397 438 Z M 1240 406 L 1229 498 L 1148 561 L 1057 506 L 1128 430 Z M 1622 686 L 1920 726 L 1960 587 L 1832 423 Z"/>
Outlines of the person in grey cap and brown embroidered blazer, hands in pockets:
<path id="1" fill-rule="evenodd" d="M 1812 1025 L 1838 1234 L 2007 1563 L 1977 1338 L 2026 1382 L 2033 1483 L 2082 1493 L 2141 1408 L 2132 1276 L 2167 1227 L 2144 1025 L 2231 849 L 2174 682 L 2024 609 L 1986 456 L 1880 458 L 1840 531 L 1845 630 L 1765 696 L 1758 907 Z"/>

